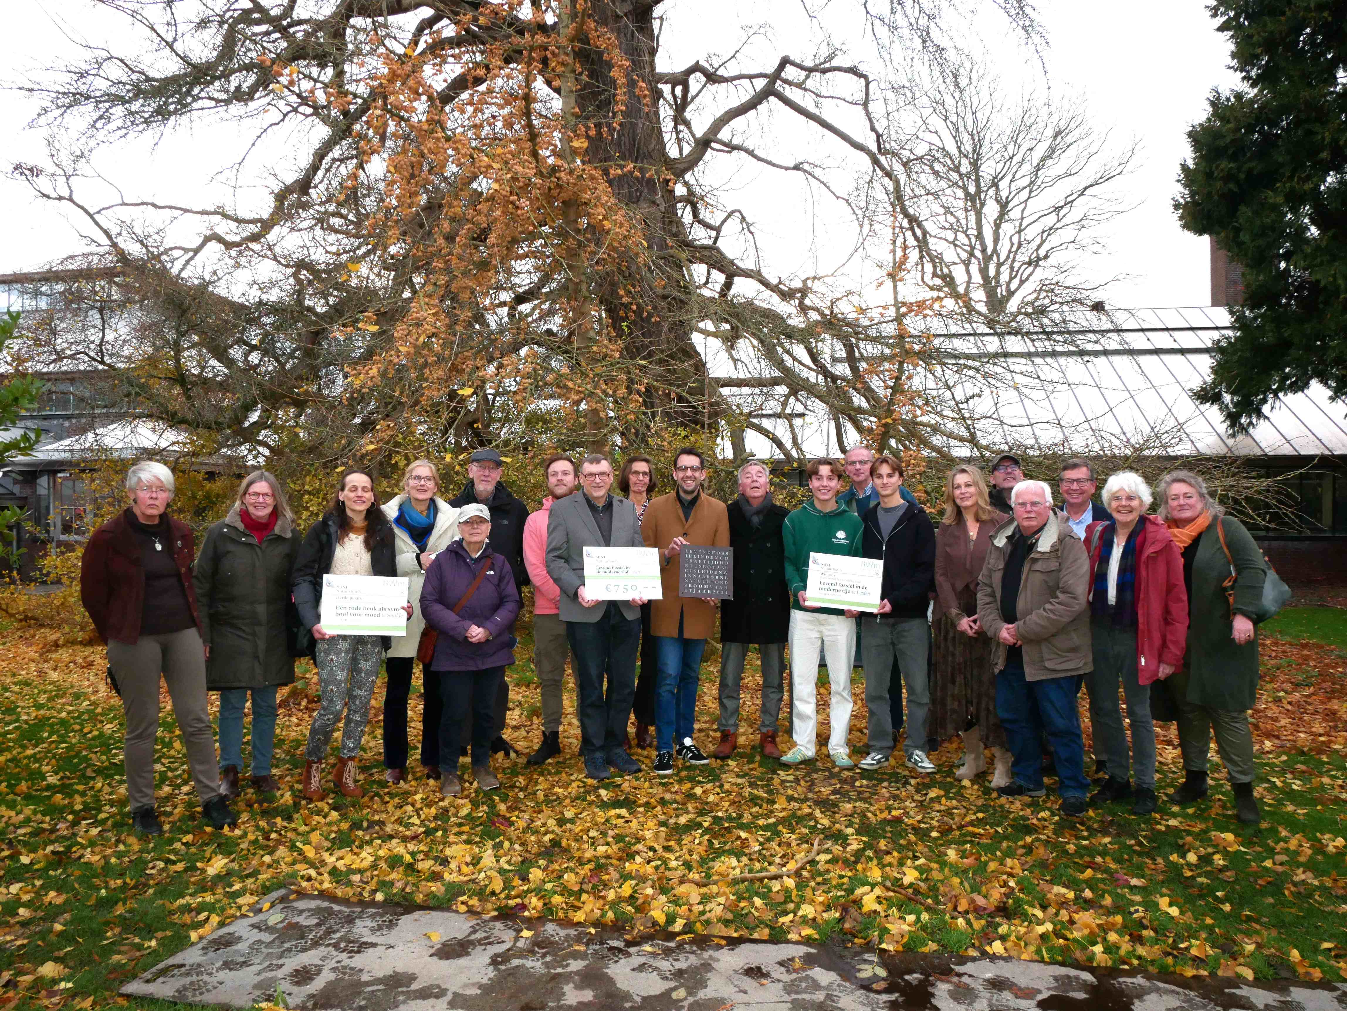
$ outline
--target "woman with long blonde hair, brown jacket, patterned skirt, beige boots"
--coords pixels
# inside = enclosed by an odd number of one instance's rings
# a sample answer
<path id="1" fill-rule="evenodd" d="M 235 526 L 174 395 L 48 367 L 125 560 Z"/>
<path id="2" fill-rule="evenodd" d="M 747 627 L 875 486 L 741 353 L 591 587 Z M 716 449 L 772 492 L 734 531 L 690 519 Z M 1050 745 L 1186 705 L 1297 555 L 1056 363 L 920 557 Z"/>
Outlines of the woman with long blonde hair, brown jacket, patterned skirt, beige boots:
<path id="1" fill-rule="evenodd" d="M 978 625 L 978 575 L 987 560 L 991 532 L 1006 521 L 987 501 L 977 467 L 960 466 L 944 481 L 944 517 L 935 534 L 935 676 L 931 678 L 931 736 L 963 736 L 963 767 L 971 779 L 987 767 L 982 748 L 995 755 L 993 786 L 1010 782 L 1010 753 L 997 719 L 994 643 Z"/>

